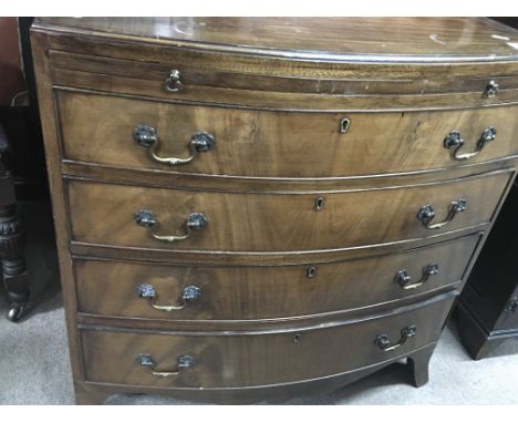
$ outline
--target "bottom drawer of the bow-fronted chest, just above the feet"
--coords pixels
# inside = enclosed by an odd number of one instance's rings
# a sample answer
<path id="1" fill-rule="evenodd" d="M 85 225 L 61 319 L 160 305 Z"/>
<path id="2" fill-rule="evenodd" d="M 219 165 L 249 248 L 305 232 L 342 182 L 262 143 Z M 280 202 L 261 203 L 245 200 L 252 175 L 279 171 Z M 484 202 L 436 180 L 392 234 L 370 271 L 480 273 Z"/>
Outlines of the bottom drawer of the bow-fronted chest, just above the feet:
<path id="1" fill-rule="evenodd" d="M 283 333 L 155 334 L 83 329 L 85 380 L 209 389 L 257 386 L 339 374 L 436 342 L 454 297 L 453 293 L 443 295 L 427 303 L 348 324 Z M 400 342 L 400 347 L 391 351 L 383 349 Z M 178 374 L 159 376 L 152 374 L 153 371 L 178 371 Z"/>

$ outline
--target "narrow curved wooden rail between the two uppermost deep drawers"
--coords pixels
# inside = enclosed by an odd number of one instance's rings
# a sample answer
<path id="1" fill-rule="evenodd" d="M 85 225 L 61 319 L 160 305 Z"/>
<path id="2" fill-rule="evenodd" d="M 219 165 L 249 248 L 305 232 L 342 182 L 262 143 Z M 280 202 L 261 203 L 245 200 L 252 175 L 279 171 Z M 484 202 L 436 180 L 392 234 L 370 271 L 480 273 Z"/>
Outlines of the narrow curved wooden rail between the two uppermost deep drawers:
<path id="1" fill-rule="evenodd" d="M 448 178 L 465 178 L 474 174 L 504 171 L 516 166 L 518 155 L 483 163 L 458 162 L 459 165 L 437 169 L 424 169 L 398 174 L 349 176 L 335 178 L 255 178 L 228 175 L 184 174 L 155 169 L 124 168 L 63 161 L 63 177 L 66 179 L 95 179 L 100 182 L 137 185 L 142 187 L 185 188 L 193 190 L 216 190 L 230 193 L 290 193 L 304 192 L 319 194 L 343 193 L 348 190 L 380 189 L 408 184 L 429 184 Z"/>

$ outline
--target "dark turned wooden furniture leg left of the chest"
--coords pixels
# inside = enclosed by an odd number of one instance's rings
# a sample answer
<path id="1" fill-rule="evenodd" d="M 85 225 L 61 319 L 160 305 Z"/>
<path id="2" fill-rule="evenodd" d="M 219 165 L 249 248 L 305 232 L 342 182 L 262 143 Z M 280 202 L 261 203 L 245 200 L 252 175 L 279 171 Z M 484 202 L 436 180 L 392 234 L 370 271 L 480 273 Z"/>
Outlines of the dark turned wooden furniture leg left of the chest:
<path id="1" fill-rule="evenodd" d="M 25 230 L 18 217 L 14 184 L 8 169 L 9 143 L 0 124 L 0 262 L 11 305 L 8 319 L 19 321 L 29 301 L 25 271 Z"/>

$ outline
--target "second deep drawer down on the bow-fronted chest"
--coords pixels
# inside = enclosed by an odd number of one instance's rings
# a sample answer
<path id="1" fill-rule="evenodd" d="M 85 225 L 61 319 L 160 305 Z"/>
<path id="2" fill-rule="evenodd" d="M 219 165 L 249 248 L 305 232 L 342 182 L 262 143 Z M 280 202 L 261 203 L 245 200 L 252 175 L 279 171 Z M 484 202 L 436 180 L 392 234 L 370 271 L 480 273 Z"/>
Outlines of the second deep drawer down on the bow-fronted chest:
<path id="1" fill-rule="evenodd" d="M 317 194 L 196 192 L 74 179 L 69 182 L 72 239 L 251 252 L 412 240 L 488 223 L 514 174 L 506 169 L 433 184 Z M 428 221 L 432 212 L 436 216 Z"/>

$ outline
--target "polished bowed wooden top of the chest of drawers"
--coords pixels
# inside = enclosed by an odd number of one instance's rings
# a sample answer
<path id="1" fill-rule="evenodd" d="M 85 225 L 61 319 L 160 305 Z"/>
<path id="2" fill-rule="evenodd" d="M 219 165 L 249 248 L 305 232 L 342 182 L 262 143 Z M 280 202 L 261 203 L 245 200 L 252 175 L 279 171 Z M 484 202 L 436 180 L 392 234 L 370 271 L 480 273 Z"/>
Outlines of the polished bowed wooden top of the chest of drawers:
<path id="1" fill-rule="evenodd" d="M 487 18 L 39 18 L 34 28 L 307 60 L 518 60 L 518 30 Z"/>

